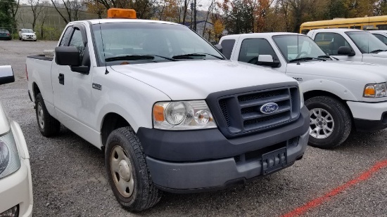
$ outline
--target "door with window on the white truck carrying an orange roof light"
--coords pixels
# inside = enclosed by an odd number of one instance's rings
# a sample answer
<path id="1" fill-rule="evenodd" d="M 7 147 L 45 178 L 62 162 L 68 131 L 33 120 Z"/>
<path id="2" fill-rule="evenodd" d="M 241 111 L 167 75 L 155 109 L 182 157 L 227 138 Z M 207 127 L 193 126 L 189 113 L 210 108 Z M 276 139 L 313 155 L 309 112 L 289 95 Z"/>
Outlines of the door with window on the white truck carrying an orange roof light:
<path id="1" fill-rule="evenodd" d="M 68 38 L 61 45 L 77 47 L 80 63 L 85 65 L 86 58 L 89 58 L 85 28 L 80 24 L 69 28 L 70 30 L 66 29 L 66 32 L 70 32 Z M 56 63 L 53 63 L 52 73 L 53 96 L 59 121 L 75 133 L 82 128 L 84 131 L 84 125 L 90 126 L 94 119 L 91 74 L 72 72 L 70 66 Z"/>

